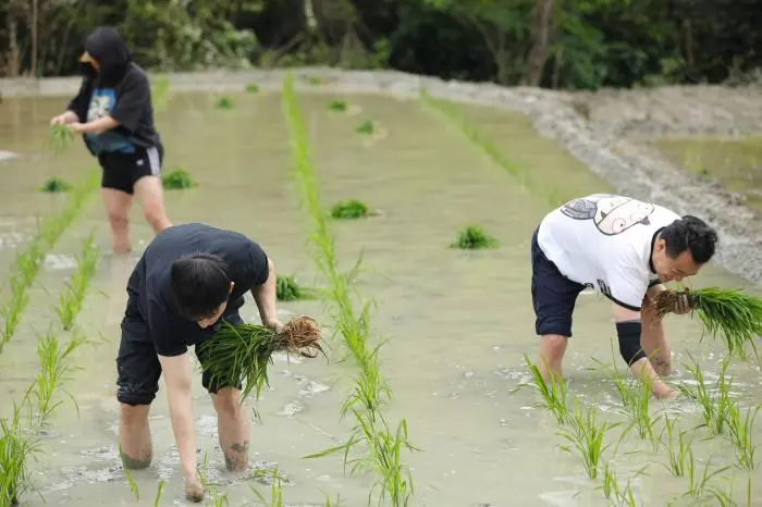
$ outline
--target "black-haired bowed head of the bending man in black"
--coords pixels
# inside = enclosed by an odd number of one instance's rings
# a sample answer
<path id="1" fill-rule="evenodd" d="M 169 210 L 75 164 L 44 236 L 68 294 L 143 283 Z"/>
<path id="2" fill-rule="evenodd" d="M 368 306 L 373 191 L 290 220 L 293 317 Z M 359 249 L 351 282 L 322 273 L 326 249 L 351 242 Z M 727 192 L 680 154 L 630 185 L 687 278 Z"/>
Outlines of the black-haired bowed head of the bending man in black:
<path id="1" fill-rule="evenodd" d="M 170 285 L 180 312 L 188 319 L 212 316 L 230 296 L 228 264 L 212 253 L 189 253 L 172 262 Z"/>

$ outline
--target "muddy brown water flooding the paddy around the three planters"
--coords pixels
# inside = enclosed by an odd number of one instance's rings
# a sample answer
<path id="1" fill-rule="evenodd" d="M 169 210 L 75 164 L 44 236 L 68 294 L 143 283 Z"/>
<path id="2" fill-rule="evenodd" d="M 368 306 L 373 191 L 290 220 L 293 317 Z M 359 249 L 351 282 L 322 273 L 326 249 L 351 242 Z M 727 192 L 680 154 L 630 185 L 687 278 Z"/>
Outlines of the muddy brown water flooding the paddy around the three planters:
<path id="1" fill-rule="evenodd" d="M 395 393 L 389 418 L 404 417 L 411 442 L 421 448 L 405 455 L 415 478 L 414 504 L 605 505 L 594 491 L 598 484 L 583 479 L 577 456 L 558 449 L 562 440 L 555 434 L 554 421 L 532 407 L 534 394 L 530 389 L 511 394 L 527 379 L 523 355 L 536 355 L 528 247 L 531 232 L 548 211 L 543 199 L 517 186 L 457 129 L 416 102 L 349 97 L 355 107 L 342 114 L 327 110 L 329 99 L 306 95 L 299 101 L 312 136 L 325 205 L 358 198 L 379 211 L 367 220 L 336 223 L 334 231 L 340 258 L 347 268 L 365 250 L 358 288 L 378 302 L 376 336 L 390 338 L 381 357 L 382 372 Z M 199 183 L 197 189 L 167 193 L 170 218 L 242 231 L 262 244 L 280 272 L 311 282 L 316 272 L 306 248 L 308 230 L 297 212 L 296 189 L 287 173 L 287 132 L 280 98 L 236 96 L 234 101 L 234 110 L 218 111 L 211 96 L 177 96 L 160 115 L 165 166 L 182 165 Z M 42 123 L 57 107 L 57 102 L 39 101 L 36 108 L 50 111 L 38 114 L 36 122 L 24 115 L 15 119 L 8 143 L 16 150 L 41 143 L 47 132 Z M 556 174 L 568 183 L 569 191 L 603 189 L 601 182 L 552 144 L 533 138 L 525 123 L 481 109 L 466 111 L 480 119 L 495 143 L 505 140 L 507 156 L 520 153 L 528 166 Z M 382 133 L 356 134 L 355 127 L 366 119 L 380 122 Z M 90 162 L 77 149 L 61 163 L 72 173 Z M 41 160 L 42 156 L 3 166 L 17 164 L 24 171 L 23 177 L 12 182 L 16 194 L 36 197 L 37 183 L 33 185 L 27 175 L 46 174 Z M 4 188 L 2 194 L 4 202 Z M 19 202 L 25 201 L 20 198 Z M 151 233 L 140 221 L 139 209 L 133 217 L 133 238 L 139 250 L 140 242 L 149 240 Z M 501 247 L 469 253 L 447 248 L 456 231 L 468 223 L 484 226 Z M 99 244 L 108 249 L 98 199 L 75 228 L 64 234 L 56 253 L 74 255 L 94 226 Z M 77 364 L 83 371 L 67 384 L 79 404 L 79 417 L 71 404 L 61 407 L 35 466 L 35 483 L 48 505 L 152 505 L 159 479 L 168 481 L 161 505 L 183 504 L 163 389 L 151 410 L 155 462 L 149 470 L 134 473 L 138 502 L 132 499 L 115 459 L 113 358 L 124 283 L 133 262 L 134 258 L 101 259 L 94 283 L 103 294 L 93 292 L 81 317 L 88 335 L 102 336 L 102 343 L 79 350 Z M 51 295 L 36 289 L 24 331 L 0 355 L 3 401 L 35 373 L 36 336 L 30 326 L 46 329 L 53 318 L 50 306 L 65 273 L 65 269 L 46 270 L 40 275 L 40 285 Z M 695 283 L 748 286 L 714 267 Z M 283 319 L 307 312 L 327 321 L 319 301 L 280 307 Z M 243 313 L 257 319 L 253 304 Z M 699 345 L 700 327 L 689 319 L 671 319 L 667 325 L 678 364 L 690 351 L 710 369 L 706 375 L 711 378 L 722 347 L 711 341 Z M 580 401 L 600 405 L 612 421 L 623 420 L 611 383 L 603 374 L 587 370 L 594 366 L 591 357 L 613 361 L 615 336 L 609 305 L 597 296 L 580 296 L 575 333 L 565 361 L 573 394 Z M 369 478 L 344 477 L 339 457 L 302 459 L 346 438 L 348 429 L 339 420 L 339 407 L 352 367 L 324 360 L 287 363 L 279 358 L 270 371 L 271 389 L 256 404 L 261 422 L 251 417 L 251 473 L 276 463 L 290 479 L 284 492 L 288 505 L 323 503 L 323 492 L 334 498 L 341 495 L 345 505 L 365 505 Z M 742 396 L 743 404 L 762 401 L 759 371 L 734 364 L 733 372 L 738 383 L 734 393 Z M 681 367 L 676 376 L 685 378 Z M 200 382 L 194 388 L 199 448 L 207 453 L 208 475 L 221 484 L 231 505 L 254 505 L 249 486 L 263 492 L 268 486 L 222 471 L 213 409 Z M 654 404 L 654 412 L 665 409 L 680 413 L 683 428 L 698 421 L 696 407 L 689 403 Z M 755 436 L 762 441 L 759 423 Z M 640 453 L 626 454 L 631 450 Z M 697 443 L 693 452 L 700 459 L 714 456 L 712 468 L 732 463 L 732 449 L 721 438 Z M 687 489 L 687 480 L 667 477 L 657 465 L 665 460 L 663 452 L 653 454 L 635 440 L 626 438 L 618 454 L 610 453 L 607 458 L 615 461 L 620 478 L 652 463 L 649 475 L 634 480 L 641 505 L 666 505 Z M 737 478 L 737 490 L 746 483 L 745 473 L 727 471 L 724 475 Z M 759 491 L 755 495 L 762 499 Z M 42 503 L 30 496 L 28 505 Z"/>

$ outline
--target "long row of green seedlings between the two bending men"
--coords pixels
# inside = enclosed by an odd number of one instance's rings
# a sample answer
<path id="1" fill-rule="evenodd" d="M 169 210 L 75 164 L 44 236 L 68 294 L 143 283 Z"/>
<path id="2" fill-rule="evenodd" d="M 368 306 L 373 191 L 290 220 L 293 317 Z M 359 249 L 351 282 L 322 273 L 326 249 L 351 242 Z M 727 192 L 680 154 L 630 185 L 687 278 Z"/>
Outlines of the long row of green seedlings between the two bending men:
<path id="1" fill-rule="evenodd" d="M 294 175 L 300 200 L 306 208 L 306 215 L 312 224 L 310 236 L 315 246 L 314 257 L 327 280 L 327 302 L 332 313 L 335 333 L 343 337 L 348 356 L 359 368 L 353 391 L 341 410 L 342 418 L 352 416 L 355 420 L 349 438 L 343 445 L 309 457 L 342 453 L 345 463 L 351 465 L 353 473 L 376 472 L 373 490 L 380 486 L 379 503 L 385 500 L 394 507 L 407 506 L 413 494 L 413 478 L 408 467 L 402 460 L 402 453 L 404 449 L 414 447 L 407 440 L 406 421 L 401 420 L 396 430 L 392 430 L 381 412 L 384 404 L 391 398 L 392 392 L 380 373 L 378 363 L 380 345 L 371 348 L 368 344 L 371 301 L 360 301 L 357 310 L 351 295 L 361 257 L 346 273 L 339 267 L 334 238 L 321 209 L 319 186 L 309 153 L 309 141 L 296 103 L 291 75 L 284 81 L 283 109 L 291 134 Z M 353 449 L 358 445 L 365 448 L 365 453 L 349 458 Z M 369 502 L 372 495 L 371 490 Z"/>

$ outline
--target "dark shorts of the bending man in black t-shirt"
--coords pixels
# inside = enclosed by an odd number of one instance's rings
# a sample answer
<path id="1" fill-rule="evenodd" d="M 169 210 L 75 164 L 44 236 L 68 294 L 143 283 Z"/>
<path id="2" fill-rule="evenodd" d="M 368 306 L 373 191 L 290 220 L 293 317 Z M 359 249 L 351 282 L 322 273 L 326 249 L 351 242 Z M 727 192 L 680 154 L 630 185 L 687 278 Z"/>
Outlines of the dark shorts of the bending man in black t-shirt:
<path id="1" fill-rule="evenodd" d="M 243 322 L 241 314 L 229 313 L 223 318 L 231 324 Z M 199 347 L 196 357 L 199 357 Z M 122 320 L 122 341 L 119 344 L 116 356 L 116 399 L 126 405 L 150 405 L 159 392 L 159 378 L 161 376 L 161 363 L 153 348 L 153 341 L 148 332 L 148 325 L 143 317 L 127 310 Z M 209 393 L 217 393 L 229 384 L 223 381 L 211 385 L 211 375 L 208 372 L 201 374 L 201 385 Z M 241 388 L 241 385 L 236 385 Z"/>

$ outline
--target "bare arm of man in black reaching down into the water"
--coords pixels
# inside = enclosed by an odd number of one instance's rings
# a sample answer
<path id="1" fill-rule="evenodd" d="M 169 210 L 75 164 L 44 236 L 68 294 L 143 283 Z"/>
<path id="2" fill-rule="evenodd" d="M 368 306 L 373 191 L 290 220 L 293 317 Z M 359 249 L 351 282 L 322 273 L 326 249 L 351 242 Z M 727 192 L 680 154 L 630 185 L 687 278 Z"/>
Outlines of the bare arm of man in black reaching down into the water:
<path id="1" fill-rule="evenodd" d="M 180 356 L 159 356 L 167 384 L 170 419 L 180 462 L 186 479 L 196 477 L 196 429 L 190 399 L 192 368 L 188 353 Z"/>

